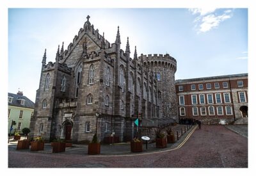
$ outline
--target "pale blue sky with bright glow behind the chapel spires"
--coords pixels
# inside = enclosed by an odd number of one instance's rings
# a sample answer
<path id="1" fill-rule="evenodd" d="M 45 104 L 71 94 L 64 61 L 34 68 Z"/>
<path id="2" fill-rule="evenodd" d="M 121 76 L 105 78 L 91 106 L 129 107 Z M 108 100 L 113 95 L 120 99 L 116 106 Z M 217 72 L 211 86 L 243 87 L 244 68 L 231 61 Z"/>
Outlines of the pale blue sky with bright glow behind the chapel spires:
<path id="1" fill-rule="evenodd" d="M 138 54 L 173 56 L 175 79 L 248 72 L 246 8 L 9 8 L 8 92 L 19 89 L 35 102 L 44 49 L 47 62 L 55 61 L 58 45 L 67 49 L 87 15 L 110 43 L 120 26 L 131 57 L 135 45 Z"/>

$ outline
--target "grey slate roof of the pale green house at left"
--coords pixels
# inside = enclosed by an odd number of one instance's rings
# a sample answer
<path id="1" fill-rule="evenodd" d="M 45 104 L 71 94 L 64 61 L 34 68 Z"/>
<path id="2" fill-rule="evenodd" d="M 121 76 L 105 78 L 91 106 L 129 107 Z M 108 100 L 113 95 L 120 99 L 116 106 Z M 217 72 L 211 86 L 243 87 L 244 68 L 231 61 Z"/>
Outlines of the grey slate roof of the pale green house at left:
<path id="1" fill-rule="evenodd" d="M 8 97 L 13 97 L 12 102 L 8 102 L 8 105 L 10 106 L 18 106 L 22 108 L 35 108 L 35 103 L 31 100 L 29 100 L 26 96 L 23 95 L 17 95 L 14 93 L 8 93 Z M 20 100 L 25 100 L 24 104 L 20 104 Z"/>

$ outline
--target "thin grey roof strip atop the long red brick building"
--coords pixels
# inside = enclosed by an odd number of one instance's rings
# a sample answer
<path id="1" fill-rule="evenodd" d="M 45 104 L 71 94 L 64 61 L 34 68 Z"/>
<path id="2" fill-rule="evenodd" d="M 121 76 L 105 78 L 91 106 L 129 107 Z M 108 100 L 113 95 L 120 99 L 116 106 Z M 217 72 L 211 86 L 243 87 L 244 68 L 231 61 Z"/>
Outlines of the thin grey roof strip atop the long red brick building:
<path id="1" fill-rule="evenodd" d="M 232 75 L 224 75 L 224 76 L 212 76 L 212 77 L 198 77 L 198 78 L 191 78 L 191 79 L 177 79 L 175 80 L 175 84 L 180 83 L 188 83 L 192 81 L 207 81 L 211 79 L 228 79 L 232 77 L 246 77 L 248 74 L 232 74 Z"/>

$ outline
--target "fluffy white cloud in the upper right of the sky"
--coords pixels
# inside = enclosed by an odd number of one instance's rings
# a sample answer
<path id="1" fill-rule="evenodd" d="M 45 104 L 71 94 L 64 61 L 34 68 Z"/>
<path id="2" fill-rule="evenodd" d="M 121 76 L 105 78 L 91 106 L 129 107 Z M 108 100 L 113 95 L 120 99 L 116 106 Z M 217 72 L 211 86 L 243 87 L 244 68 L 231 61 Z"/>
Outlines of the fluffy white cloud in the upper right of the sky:
<path id="1" fill-rule="evenodd" d="M 198 16 L 193 21 L 197 33 L 205 33 L 213 28 L 217 28 L 220 22 L 232 17 L 232 10 L 225 10 L 221 15 L 217 15 L 216 8 L 191 8 L 189 9 L 193 15 Z"/>

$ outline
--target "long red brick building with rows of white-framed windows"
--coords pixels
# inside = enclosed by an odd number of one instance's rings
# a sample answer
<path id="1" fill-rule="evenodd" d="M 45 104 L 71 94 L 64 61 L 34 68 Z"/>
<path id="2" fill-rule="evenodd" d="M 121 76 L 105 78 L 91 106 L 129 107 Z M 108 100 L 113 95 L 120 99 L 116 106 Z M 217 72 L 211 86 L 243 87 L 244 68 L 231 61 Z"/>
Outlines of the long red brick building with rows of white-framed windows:
<path id="1" fill-rule="evenodd" d="M 204 124 L 248 117 L 248 74 L 175 81 L 178 114 Z"/>

